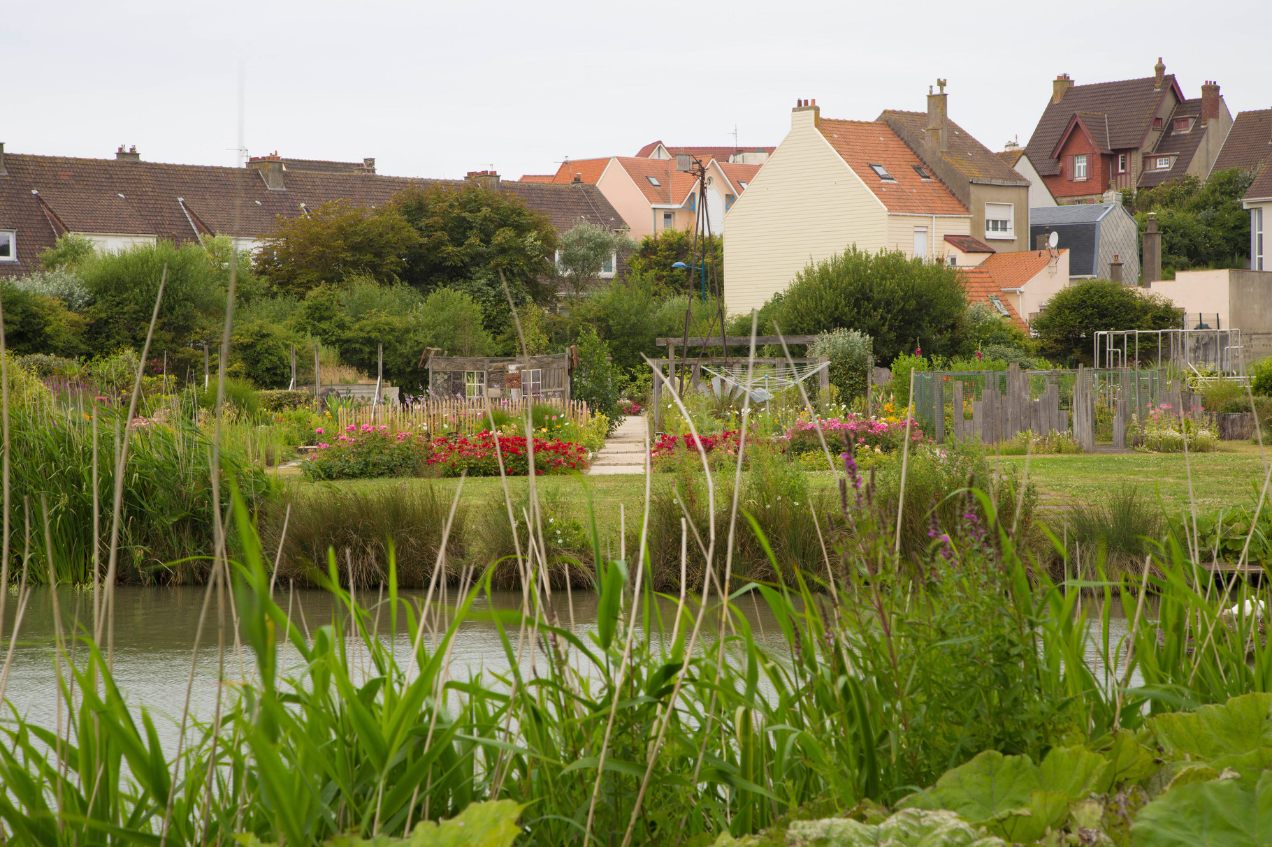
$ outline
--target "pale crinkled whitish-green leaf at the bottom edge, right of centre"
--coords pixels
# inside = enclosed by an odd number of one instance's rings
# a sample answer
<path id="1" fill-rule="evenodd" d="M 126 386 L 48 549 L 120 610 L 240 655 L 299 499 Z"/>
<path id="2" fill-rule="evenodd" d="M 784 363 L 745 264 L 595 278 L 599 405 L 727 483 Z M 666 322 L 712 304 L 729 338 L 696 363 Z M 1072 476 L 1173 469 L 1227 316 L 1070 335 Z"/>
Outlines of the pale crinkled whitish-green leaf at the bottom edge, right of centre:
<path id="1" fill-rule="evenodd" d="M 986 834 L 953 811 L 904 809 L 880 824 L 851 818 L 795 820 L 786 843 L 809 847 L 1002 847 L 1002 839 Z"/>

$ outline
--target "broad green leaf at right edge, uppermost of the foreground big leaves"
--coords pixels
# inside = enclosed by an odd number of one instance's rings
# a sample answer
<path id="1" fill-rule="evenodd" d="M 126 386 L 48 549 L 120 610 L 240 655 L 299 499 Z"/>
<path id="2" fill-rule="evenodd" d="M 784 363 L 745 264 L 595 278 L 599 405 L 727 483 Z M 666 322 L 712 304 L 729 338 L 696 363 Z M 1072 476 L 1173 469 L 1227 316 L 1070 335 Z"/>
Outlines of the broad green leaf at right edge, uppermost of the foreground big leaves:
<path id="1" fill-rule="evenodd" d="M 1272 693 L 1241 694 L 1222 706 L 1158 715 L 1149 722 L 1163 747 L 1194 758 L 1249 753 L 1272 747 Z"/>

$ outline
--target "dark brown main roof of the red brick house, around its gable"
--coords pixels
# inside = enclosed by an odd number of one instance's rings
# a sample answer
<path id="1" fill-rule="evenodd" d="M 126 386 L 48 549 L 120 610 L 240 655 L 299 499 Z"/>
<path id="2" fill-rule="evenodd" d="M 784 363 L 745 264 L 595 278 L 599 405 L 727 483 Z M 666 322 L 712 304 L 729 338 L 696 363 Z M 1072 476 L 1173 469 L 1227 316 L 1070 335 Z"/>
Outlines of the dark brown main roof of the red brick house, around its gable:
<path id="1" fill-rule="evenodd" d="M 1154 76 L 1123 79 L 1114 83 L 1071 85 L 1060 103 L 1048 98 L 1047 108 L 1038 120 L 1029 144 L 1025 145 L 1029 160 L 1043 177 L 1060 173 L 1060 162 L 1052 159 L 1051 153 L 1077 112 L 1103 113 L 1108 117 L 1110 150 L 1138 148 L 1151 128 L 1152 117 L 1166 92 L 1174 89 L 1175 97 L 1183 99 L 1174 74 L 1165 75 L 1160 89 L 1155 85 Z"/>

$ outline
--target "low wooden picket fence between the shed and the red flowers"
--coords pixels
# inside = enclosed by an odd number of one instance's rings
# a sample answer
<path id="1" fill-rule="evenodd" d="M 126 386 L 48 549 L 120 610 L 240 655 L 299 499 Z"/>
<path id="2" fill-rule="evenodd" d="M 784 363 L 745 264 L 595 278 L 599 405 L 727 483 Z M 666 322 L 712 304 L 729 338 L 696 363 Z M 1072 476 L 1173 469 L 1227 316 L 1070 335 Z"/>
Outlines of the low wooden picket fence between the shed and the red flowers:
<path id="1" fill-rule="evenodd" d="M 370 426 L 387 426 L 389 432 L 427 432 L 429 435 L 472 434 L 490 429 L 490 415 L 494 412 L 496 424 L 504 416 L 513 420 L 522 417 L 537 408 L 547 407 L 552 415 L 565 415 L 571 422 L 584 426 L 591 417 L 588 404 L 583 401 L 560 401 L 546 398 L 530 398 L 519 401 L 492 399 L 487 403 L 483 398 L 436 398 L 425 399 L 416 403 L 401 403 L 394 406 L 351 406 L 337 410 L 340 430 L 347 427 L 361 429 L 363 424 Z"/>

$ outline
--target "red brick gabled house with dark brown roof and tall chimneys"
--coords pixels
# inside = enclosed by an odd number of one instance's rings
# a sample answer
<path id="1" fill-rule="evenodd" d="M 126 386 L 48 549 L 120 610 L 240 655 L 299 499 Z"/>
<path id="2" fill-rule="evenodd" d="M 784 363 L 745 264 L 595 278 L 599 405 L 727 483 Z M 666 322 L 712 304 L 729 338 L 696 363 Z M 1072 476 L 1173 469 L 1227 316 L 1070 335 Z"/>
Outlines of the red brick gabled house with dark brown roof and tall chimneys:
<path id="1" fill-rule="evenodd" d="M 1210 174 L 1233 116 L 1217 83 L 1186 99 L 1165 71 L 1158 59 L 1142 79 L 1075 85 L 1068 74 L 1056 78 L 1025 148 L 1056 202 L 1100 202 L 1109 189 Z"/>

